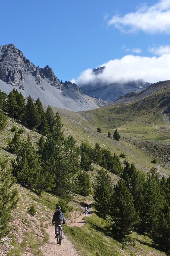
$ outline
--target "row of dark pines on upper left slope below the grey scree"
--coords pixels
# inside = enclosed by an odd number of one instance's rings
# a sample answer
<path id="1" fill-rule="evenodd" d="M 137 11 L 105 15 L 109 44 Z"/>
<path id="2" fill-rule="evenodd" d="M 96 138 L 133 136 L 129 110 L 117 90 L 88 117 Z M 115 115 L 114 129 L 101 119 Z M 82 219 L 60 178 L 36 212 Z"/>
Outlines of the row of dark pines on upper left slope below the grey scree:
<path id="1" fill-rule="evenodd" d="M 6 125 L 5 112 L 30 128 L 36 129 L 42 135 L 57 129 L 58 118 L 60 118 L 58 112 L 54 114 L 51 106 L 48 106 L 45 111 L 39 98 L 34 102 L 29 96 L 26 104 L 21 92 L 19 93 L 15 88 L 8 95 L 0 90 L 0 110 L 0 130 Z"/>

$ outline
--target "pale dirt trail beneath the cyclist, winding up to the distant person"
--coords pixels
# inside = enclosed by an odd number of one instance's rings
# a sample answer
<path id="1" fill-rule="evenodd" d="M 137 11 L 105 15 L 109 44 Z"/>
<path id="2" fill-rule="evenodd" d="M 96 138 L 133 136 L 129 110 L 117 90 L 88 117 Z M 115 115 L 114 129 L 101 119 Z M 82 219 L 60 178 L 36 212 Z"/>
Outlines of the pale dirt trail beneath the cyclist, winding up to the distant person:
<path id="1" fill-rule="evenodd" d="M 87 201 L 89 207 L 90 204 L 92 203 L 91 201 Z M 82 212 L 80 213 L 80 216 L 76 217 L 76 219 L 72 219 L 68 225 L 70 227 L 73 226 L 77 226 L 77 227 L 81 227 L 84 225 L 84 220 L 83 217 L 85 216 L 85 214 L 83 213 L 83 207 L 82 207 Z M 88 217 L 91 217 L 93 214 L 93 212 L 91 211 L 91 208 L 89 208 L 89 214 L 87 215 Z M 73 216 L 74 217 L 74 216 Z M 49 234 L 49 242 L 47 244 L 45 244 L 43 246 L 43 248 L 41 248 L 42 252 L 43 252 L 43 256 L 56 256 L 56 255 L 60 255 L 60 256 L 79 256 L 78 251 L 74 248 L 74 245 L 68 240 L 67 236 L 65 234 L 63 234 L 64 239 L 62 239 L 61 241 L 61 245 L 57 244 L 57 239 L 54 238 L 55 234 L 54 234 L 54 226 L 50 227 L 47 230 L 48 234 Z"/>

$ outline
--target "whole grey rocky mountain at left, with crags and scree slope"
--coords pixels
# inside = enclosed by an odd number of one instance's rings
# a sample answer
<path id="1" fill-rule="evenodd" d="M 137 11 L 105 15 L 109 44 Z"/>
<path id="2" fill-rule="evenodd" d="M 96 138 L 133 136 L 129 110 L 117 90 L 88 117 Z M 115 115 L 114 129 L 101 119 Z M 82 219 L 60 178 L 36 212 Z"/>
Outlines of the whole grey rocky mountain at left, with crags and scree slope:
<path id="1" fill-rule="evenodd" d="M 38 97 L 45 105 L 83 111 L 105 106 L 106 102 L 84 95 L 76 84 L 60 81 L 53 70 L 36 67 L 13 44 L 0 46 L 0 89 L 9 93 L 14 86 L 25 98 Z"/>

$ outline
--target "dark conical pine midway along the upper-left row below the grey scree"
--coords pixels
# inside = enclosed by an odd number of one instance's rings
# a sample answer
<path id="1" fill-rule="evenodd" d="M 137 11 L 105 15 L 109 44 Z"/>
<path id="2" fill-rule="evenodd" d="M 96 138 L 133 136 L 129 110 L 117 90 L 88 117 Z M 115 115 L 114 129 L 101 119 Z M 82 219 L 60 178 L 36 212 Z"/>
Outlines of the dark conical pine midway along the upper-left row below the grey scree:
<path id="1" fill-rule="evenodd" d="M 25 122 L 32 128 L 37 127 L 40 122 L 39 112 L 31 96 L 28 96 L 27 105 L 25 107 Z"/>

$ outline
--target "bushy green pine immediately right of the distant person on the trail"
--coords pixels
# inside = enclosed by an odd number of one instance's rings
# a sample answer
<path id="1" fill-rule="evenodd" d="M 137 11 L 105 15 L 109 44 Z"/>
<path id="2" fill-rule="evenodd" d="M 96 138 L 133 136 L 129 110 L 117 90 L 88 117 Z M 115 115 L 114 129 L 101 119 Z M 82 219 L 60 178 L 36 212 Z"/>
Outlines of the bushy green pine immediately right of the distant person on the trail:
<path id="1" fill-rule="evenodd" d="M 113 191 L 112 180 L 102 168 L 94 183 L 95 207 L 101 215 L 106 215 L 110 210 L 110 195 Z"/>

